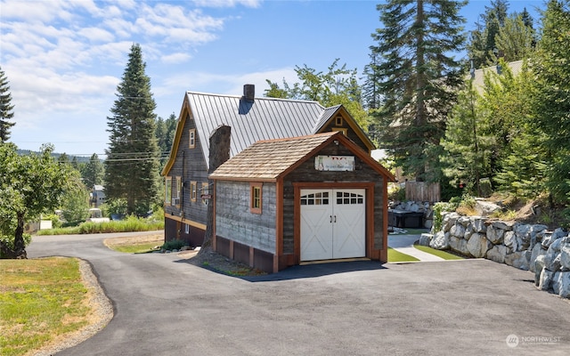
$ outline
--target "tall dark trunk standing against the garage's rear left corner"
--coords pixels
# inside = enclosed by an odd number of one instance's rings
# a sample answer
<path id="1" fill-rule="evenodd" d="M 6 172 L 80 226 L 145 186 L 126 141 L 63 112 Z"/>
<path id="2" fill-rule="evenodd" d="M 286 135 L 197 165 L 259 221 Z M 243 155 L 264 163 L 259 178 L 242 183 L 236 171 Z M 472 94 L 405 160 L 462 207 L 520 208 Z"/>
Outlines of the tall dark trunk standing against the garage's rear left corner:
<path id="1" fill-rule="evenodd" d="M 221 125 L 210 135 L 210 153 L 208 174 L 212 174 L 217 167 L 230 159 L 230 137 L 232 127 Z M 214 191 L 214 182 L 208 180 L 208 191 L 212 198 L 208 202 L 208 215 L 206 218 L 206 232 L 204 233 L 204 242 L 199 250 L 199 255 L 212 250 L 212 241 L 214 240 L 214 204 L 216 202 L 216 191 Z"/>

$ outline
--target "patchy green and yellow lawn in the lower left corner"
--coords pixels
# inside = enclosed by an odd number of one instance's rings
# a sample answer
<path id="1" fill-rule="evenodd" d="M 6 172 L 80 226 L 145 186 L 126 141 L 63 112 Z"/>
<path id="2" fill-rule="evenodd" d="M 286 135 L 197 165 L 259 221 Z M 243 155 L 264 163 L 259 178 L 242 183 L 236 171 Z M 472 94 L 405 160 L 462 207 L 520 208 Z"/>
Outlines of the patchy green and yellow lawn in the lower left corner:
<path id="1" fill-rule="evenodd" d="M 23 355 L 88 324 L 75 258 L 0 260 L 0 354 Z"/>

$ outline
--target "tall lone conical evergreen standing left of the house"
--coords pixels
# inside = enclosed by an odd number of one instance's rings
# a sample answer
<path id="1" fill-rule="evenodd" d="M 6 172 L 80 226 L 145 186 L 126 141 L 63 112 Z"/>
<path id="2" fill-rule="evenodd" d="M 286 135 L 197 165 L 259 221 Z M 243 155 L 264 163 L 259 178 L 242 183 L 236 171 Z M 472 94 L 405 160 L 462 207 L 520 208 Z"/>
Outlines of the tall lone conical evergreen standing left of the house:
<path id="1" fill-rule="evenodd" d="M 128 214 L 149 211 L 159 190 L 156 103 L 145 67 L 141 46 L 133 44 L 110 109 L 113 115 L 107 117 L 110 144 L 105 151 L 105 194 L 110 200 L 125 198 Z"/>

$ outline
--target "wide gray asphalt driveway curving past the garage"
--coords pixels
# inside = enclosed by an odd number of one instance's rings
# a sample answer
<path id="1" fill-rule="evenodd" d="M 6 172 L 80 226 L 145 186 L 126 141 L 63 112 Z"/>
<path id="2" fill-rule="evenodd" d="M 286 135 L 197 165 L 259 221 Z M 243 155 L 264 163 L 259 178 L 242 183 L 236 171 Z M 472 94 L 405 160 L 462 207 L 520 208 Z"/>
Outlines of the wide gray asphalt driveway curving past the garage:
<path id="1" fill-rule="evenodd" d="M 175 254 L 37 237 L 28 256 L 77 256 L 115 306 L 59 355 L 567 355 L 570 303 L 486 260 L 324 263 L 239 279 Z M 509 340 L 509 343 L 507 342 Z"/>

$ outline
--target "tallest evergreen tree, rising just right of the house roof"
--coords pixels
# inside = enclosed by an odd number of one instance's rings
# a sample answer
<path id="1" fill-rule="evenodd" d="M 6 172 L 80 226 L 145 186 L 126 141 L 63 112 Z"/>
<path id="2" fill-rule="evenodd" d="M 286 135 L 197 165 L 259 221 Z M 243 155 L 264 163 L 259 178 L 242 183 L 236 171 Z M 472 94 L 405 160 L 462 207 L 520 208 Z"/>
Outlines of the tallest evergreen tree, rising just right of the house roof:
<path id="1" fill-rule="evenodd" d="M 445 120 L 462 83 L 460 63 L 449 54 L 464 42 L 460 7 L 451 0 L 389 0 L 379 4 L 384 26 L 372 37 L 379 55 L 379 92 L 385 102 L 375 117 L 380 146 L 417 180 L 435 180 Z"/>

